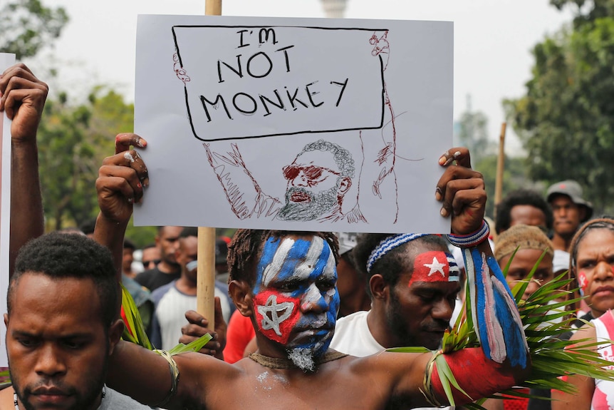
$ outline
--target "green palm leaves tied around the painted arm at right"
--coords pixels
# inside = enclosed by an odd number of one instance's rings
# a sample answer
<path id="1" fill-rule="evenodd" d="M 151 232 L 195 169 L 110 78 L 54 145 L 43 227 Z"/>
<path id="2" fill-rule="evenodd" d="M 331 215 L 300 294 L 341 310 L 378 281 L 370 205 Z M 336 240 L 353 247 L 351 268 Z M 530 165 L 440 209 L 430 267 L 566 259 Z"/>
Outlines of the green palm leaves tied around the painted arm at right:
<path id="1" fill-rule="evenodd" d="M 512 254 L 508 264 L 504 267 L 504 275 L 507 275 L 507 270 L 509 270 L 514 255 L 516 255 L 516 252 Z M 567 299 L 567 295 L 573 294 L 573 291 L 568 292 L 561 290 L 565 289 L 569 283 L 573 281 L 567 279 L 567 272 L 563 272 L 563 274 L 544 284 L 525 301 L 521 299 L 526 287 L 533 279 L 534 272 L 537 270 L 544 255 L 546 255 L 546 252 L 543 252 L 526 279 L 520 281 L 511 289 L 511 293 L 516 299 L 516 304 L 518 304 L 524 333 L 526 335 L 526 342 L 529 345 L 529 354 L 531 356 L 531 375 L 523 383 L 519 384 L 519 386 L 532 389 L 558 389 L 567 393 L 573 393 L 575 392 L 575 387 L 567 381 L 558 379 L 558 376 L 563 376 L 565 374 L 582 374 L 592 377 L 593 379 L 614 381 L 614 374 L 608 370 L 611 363 L 605 359 L 601 359 L 598 352 L 590 350 L 592 346 L 611 342 L 583 344 L 583 346 L 578 347 L 578 343 L 590 341 L 586 339 L 579 341 L 561 340 L 557 337 L 558 335 L 572 330 L 571 324 L 575 319 L 568 317 L 569 312 L 565 308 L 567 306 L 573 306 L 580 301 L 580 299 Z M 469 287 L 469 283 L 467 283 L 467 287 Z M 467 295 L 467 299 L 463 306 L 464 314 L 459 315 L 452 331 L 447 331 L 444 334 L 442 340 L 442 352 L 444 354 L 467 347 L 479 346 L 477 334 L 474 331 L 472 323 L 469 289 L 467 289 L 465 294 Z M 555 299 L 566 300 L 564 302 L 551 303 Z M 388 350 L 390 352 L 427 352 L 423 347 L 400 347 Z M 457 381 L 454 379 L 452 371 L 449 371 L 449 368 L 445 369 L 447 364 L 444 364 L 445 359 L 442 355 L 439 355 L 435 359 L 435 362 L 437 364 L 437 369 L 439 369 L 439 366 L 444 368 L 444 371 L 440 372 L 439 378 L 444 388 L 447 386 L 446 391 L 448 400 L 451 404 L 454 404 L 449 386 L 452 385 L 456 387 Z M 534 397 L 524 394 L 517 389 L 501 391 L 501 394 L 516 397 Z M 503 398 L 502 396 L 493 397 L 496 399 Z M 540 398 L 537 396 L 535 397 Z M 468 409 L 483 410 L 481 406 L 483 403 L 484 399 L 481 399 L 476 403 L 469 403 L 464 406 Z"/>

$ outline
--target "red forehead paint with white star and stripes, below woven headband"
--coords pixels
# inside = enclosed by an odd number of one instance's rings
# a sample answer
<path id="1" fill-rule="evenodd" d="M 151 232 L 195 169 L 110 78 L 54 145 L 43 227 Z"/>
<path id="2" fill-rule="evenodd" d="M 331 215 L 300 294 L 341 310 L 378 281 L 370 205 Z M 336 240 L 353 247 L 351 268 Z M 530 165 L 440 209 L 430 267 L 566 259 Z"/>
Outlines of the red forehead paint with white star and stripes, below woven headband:
<path id="1" fill-rule="evenodd" d="M 424 252 L 414 260 L 413 282 L 458 282 L 459 268 L 454 257 L 440 250 Z"/>

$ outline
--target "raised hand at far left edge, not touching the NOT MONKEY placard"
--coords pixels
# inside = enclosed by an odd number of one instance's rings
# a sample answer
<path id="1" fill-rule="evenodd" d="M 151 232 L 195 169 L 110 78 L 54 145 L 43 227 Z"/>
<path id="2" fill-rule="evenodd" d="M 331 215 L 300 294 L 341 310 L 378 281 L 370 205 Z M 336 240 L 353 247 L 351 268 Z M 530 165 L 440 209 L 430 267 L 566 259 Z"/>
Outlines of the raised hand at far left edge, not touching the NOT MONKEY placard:
<path id="1" fill-rule="evenodd" d="M 23 63 L 0 74 L 0 111 L 6 111 L 6 116 L 13 121 L 11 137 L 14 143 L 36 142 L 36 130 L 48 91 L 47 84 L 38 80 Z"/>

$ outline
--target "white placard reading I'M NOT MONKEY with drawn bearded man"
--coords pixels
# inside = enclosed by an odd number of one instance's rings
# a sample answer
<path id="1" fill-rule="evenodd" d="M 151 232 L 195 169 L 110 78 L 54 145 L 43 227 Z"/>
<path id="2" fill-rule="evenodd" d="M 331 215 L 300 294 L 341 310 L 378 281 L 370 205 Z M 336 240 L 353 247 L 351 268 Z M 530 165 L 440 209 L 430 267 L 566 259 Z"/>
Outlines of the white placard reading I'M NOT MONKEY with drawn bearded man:
<path id="1" fill-rule="evenodd" d="M 139 16 L 136 225 L 449 232 L 453 26 Z"/>

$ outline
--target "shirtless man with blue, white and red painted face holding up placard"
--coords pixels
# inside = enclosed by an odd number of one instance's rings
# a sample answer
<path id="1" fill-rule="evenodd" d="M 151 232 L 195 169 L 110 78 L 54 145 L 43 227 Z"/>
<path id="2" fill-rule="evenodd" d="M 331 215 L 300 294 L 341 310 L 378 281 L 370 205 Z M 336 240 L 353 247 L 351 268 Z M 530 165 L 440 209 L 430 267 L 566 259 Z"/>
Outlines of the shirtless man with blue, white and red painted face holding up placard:
<path id="1" fill-rule="evenodd" d="M 105 159 L 97 181 L 101 212 L 95 237 L 119 261 L 132 203 L 142 200 L 148 179 L 137 152 L 128 150 L 130 145 L 142 148 L 145 141 L 122 134 L 116 142 L 116 155 Z M 490 272 L 497 275 L 488 279 L 498 286 L 504 278 L 492 265 L 487 232 L 482 232 L 486 203 L 482 175 L 469 168 L 466 149 L 449 151 L 439 163 L 447 166 L 454 160 L 457 166 L 447 167 L 437 184 L 442 216 L 452 215 L 451 230 L 457 240 L 473 246 L 472 266 L 487 261 Z M 386 409 L 449 403 L 439 381 L 437 354 L 383 352 L 358 358 L 328 349 L 339 304 L 336 254 L 335 237 L 325 232 L 240 230 L 229 247 L 229 292 L 256 329 L 257 355 L 236 364 L 204 354 L 182 354 L 172 360 L 120 342 L 111 356 L 109 386 L 168 409 Z M 489 272 L 481 268 L 475 271 Z M 486 278 L 479 279 L 483 283 Z M 484 289 L 477 294 L 480 302 Z M 489 296 L 482 301 L 486 310 L 494 309 Z M 510 310 L 497 304 L 497 315 L 506 312 L 501 314 L 507 314 L 508 327 L 516 328 L 517 337 L 511 339 L 516 344 L 503 339 L 499 322 L 497 332 L 494 314 L 485 323 L 478 313 L 475 322 L 484 329 L 480 333 L 486 353 L 464 349 L 443 355 L 472 399 L 517 384 L 531 369 L 524 333 L 514 319 L 515 305 L 511 306 Z M 425 381 L 425 374 L 432 377 Z M 454 398 L 456 404 L 470 401 L 459 391 L 454 391 Z"/>

